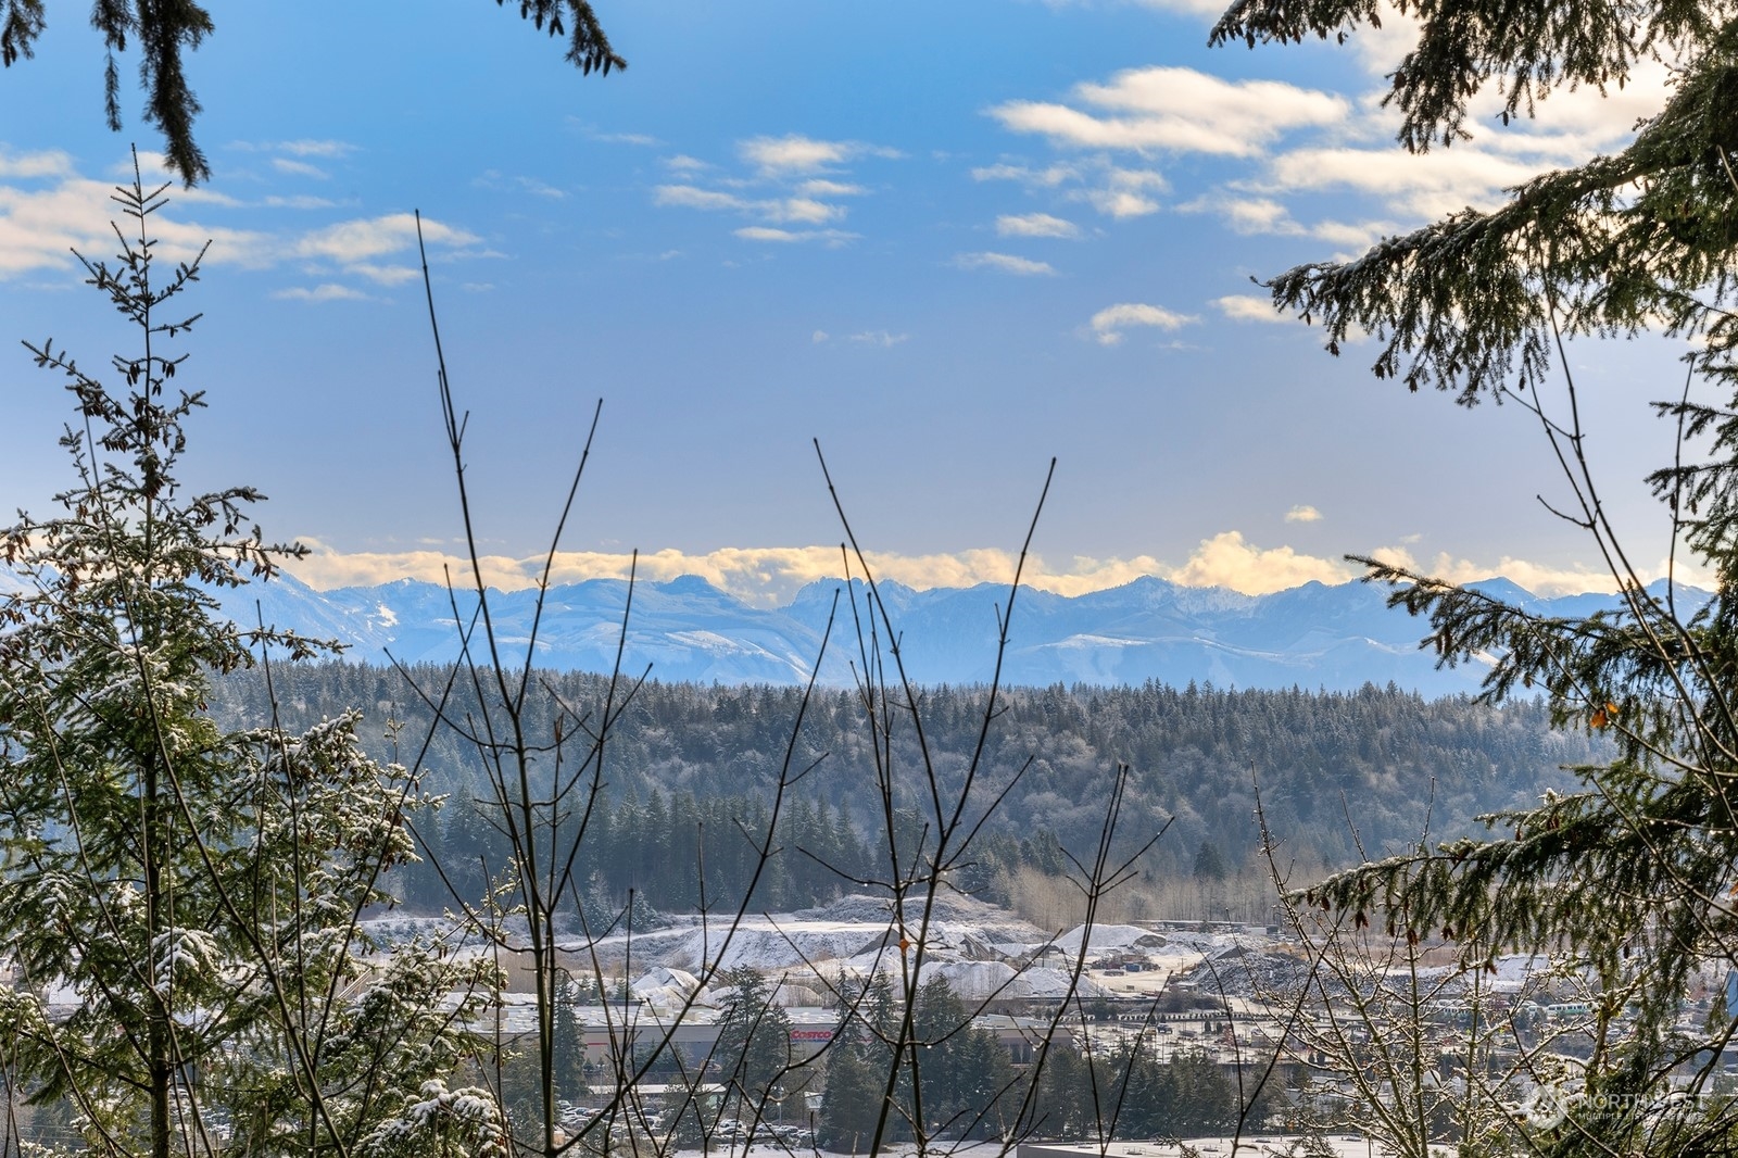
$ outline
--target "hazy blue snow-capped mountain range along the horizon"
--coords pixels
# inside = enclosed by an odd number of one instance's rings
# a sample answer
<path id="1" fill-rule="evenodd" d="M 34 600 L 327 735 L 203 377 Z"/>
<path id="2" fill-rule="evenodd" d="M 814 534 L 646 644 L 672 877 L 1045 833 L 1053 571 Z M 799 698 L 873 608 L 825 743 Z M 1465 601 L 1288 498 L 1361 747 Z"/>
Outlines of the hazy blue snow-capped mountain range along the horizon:
<path id="1" fill-rule="evenodd" d="M 1542 614 L 1576 616 L 1609 607 L 1613 596 L 1535 598 L 1507 579 L 1479 588 Z M 827 617 L 838 612 L 822 654 Z M 857 610 L 866 622 L 862 588 Z M 919 683 L 984 683 L 994 673 L 998 616 L 1008 588 L 916 591 L 881 584 L 907 671 Z M 537 636 L 541 666 L 608 671 L 615 662 L 627 584 L 591 579 L 549 591 Z M 1684 593 L 1679 591 L 1682 605 Z M 1705 596 L 1703 596 L 1705 598 Z M 255 600 L 259 610 L 255 612 Z M 702 683 L 796 683 L 820 656 L 820 680 L 848 683 L 862 666 L 852 600 L 843 582 L 815 582 L 777 609 L 746 603 L 704 579 L 640 582 L 622 669 L 653 678 Z M 459 593 L 459 619 L 474 596 Z M 450 662 L 459 656 L 455 602 L 445 588 L 400 579 L 372 588 L 315 591 L 294 577 L 226 595 L 226 609 L 257 622 L 339 640 L 349 657 L 386 662 Z M 530 633 L 534 593 L 490 595 L 495 635 L 504 654 L 521 662 Z M 1015 603 L 1003 682 L 1018 685 L 1142 683 L 1191 680 L 1218 687 L 1356 689 L 1396 682 L 1427 695 L 1470 692 L 1481 664 L 1437 669 L 1418 640 L 1427 624 L 1383 605 L 1383 589 L 1347 582 L 1307 582 L 1274 595 L 1239 595 L 1220 588 L 1185 588 L 1164 579 L 1081 596 L 1024 589 Z M 878 631 L 885 650 L 885 631 Z M 478 640 L 481 635 L 478 633 Z"/>

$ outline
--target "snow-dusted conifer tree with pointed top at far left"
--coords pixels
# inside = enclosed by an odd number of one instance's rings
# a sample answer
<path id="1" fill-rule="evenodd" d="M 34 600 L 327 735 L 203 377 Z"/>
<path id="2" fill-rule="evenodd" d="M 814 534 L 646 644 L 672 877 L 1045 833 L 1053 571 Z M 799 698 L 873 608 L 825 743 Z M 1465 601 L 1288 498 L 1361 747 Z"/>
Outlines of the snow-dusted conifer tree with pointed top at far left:
<path id="1" fill-rule="evenodd" d="M 70 1101 L 104 1155 L 207 1153 L 221 1134 L 254 1155 L 370 1137 L 391 1153 L 428 1130 L 487 1153 L 492 1102 L 443 1083 L 468 1038 L 438 1000 L 461 975 L 415 946 L 362 958 L 360 916 L 412 857 L 412 779 L 363 755 L 355 713 L 301 735 L 209 715 L 214 673 L 250 649 L 318 645 L 217 612 L 214 589 L 292 549 L 249 522 L 252 489 L 177 482 L 203 398 L 177 388 L 170 353 L 196 315 L 167 311 L 198 261 L 160 276 L 162 191 L 137 174 L 120 188 L 118 263 L 85 264 L 139 337 L 111 365 L 120 386 L 30 348 L 76 405 L 76 482 L 56 518 L 0 530 L 23 581 L 0 603 L 0 956 L 23 974 L 0 991 L 0 1036 L 26 1088 Z"/>

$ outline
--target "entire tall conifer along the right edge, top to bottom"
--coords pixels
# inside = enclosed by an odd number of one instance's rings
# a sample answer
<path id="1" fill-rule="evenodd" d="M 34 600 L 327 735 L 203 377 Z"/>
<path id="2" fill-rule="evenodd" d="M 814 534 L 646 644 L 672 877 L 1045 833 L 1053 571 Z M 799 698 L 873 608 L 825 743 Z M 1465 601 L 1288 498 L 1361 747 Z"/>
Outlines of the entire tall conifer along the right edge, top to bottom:
<path id="1" fill-rule="evenodd" d="M 1276 304 L 1324 325 L 1333 351 L 1354 327 L 1375 334 L 1378 376 L 1469 403 L 1507 398 L 1540 419 L 1573 494 L 1562 513 L 1620 584 L 1613 610 L 1545 617 L 1364 562 L 1394 584 L 1390 603 L 1429 617 L 1425 643 L 1443 662 L 1491 662 L 1484 699 L 1543 692 L 1556 723 L 1606 739 L 1609 758 L 1578 767 L 1576 791 L 1545 789 L 1538 807 L 1488 817 L 1489 838 L 1370 862 L 1305 897 L 1352 928 L 1449 939 L 1465 968 L 1547 953 L 1592 988 L 1590 1054 L 1559 1090 L 1573 1104 L 1517 1144 L 1731 1153 L 1738 1116 L 1724 1099 L 1668 1095 L 1684 1083 L 1703 1092 L 1735 1035 L 1729 1021 L 1688 1029 L 1684 1007 L 1698 974 L 1738 968 L 1738 402 L 1705 405 L 1677 386 L 1677 400 L 1658 403 L 1681 435 L 1677 461 L 1651 476 L 1682 542 L 1674 562 L 1688 555 L 1715 582 L 1705 600 L 1646 588 L 1599 497 L 1575 381 L 1552 355 L 1562 336 L 1662 329 L 1700 339 L 1691 383 L 1738 391 L 1738 19 L 1707 3 L 1397 7 L 1420 24 L 1389 101 L 1416 151 L 1463 136 L 1486 83 L 1502 85 L 1507 115 L 1524 115 L 1554 87 L 1622 85 L 1644 59 L 1677 71 L 1667 104 L 1615 156 L 1536 177 L 1495 212 L 1469 209 L 1270 283 Z M 1239 0 L 1213 38 L 1343 35 L 1376 14 L 1370 0 Z M 1568 388 L 1562 417 L 1536 400 L 1554 372 Z"/>

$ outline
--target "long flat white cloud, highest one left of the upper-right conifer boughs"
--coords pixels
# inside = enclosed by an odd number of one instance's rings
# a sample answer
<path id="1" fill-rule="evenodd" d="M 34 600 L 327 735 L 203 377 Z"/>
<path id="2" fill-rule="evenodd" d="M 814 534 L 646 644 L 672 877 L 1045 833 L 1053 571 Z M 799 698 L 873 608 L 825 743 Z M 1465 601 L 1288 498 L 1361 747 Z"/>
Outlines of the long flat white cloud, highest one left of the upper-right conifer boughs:
<path id="1" fill-rule="evenodd" d="M 1192 68 L 1131 68 L 1074 87 L 1076 104 L 1008 101 L 991 110 L 1012 132 L 1093 150 L 1255 156 L 1291 129 L 1335 125 L 1343 97 L 1277 80 L 1229 82 Z"/>

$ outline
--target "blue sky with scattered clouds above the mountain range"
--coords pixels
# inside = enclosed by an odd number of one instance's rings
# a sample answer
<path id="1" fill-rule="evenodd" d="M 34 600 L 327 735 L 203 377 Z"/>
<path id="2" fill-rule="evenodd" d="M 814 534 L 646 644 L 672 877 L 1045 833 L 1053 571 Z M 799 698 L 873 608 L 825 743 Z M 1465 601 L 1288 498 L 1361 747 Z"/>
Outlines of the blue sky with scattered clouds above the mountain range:
<path id="1" fill-rule="evenodd" d="M 509 5 L 511 7 L 511 5 Z M 189 57 L 209 186 L 158 236 L 212 238 L 188 349 L 189 476 L 252 482 L 316 586 L 438 576 L 457 504 L 407 216 L 434 292 L 490 574 L 547 546 L 596 398 L 558 574 L 704 574 L 758 600 L 829 574 L 819 438 L 883 574 L 1006 576 L 1051 456 L 1039 581 L 1246 591 L 1347 551 L 1545 591 L 1601 586 L 1536 423 L 1370 377 L 1251 276 L 1371 240 L 1625 139 L 1662 78 L 1559 92 L 1425 158 L 1392 144 L 1403 21 L 1345 47 L 1206 49 L 1196 0 L 878 5 L 600 0 L 629 70 L 580 78 L 487 0 L 214 5 Z M 0 75 L 0 330 L 123 348 L 68 247 L 153 130 L 101 116 L 101 45 L 56 10 Z M 122 68 L 134 68 L 123 59 Z M 1644 567 L 1639 485 L 1679 351 L 1582 343 L 1590 450 Z M 0 355 L 0 497 L 64 485 L 56 383 Z M 831 544 L 831 546 L 829 546 Z"/>

